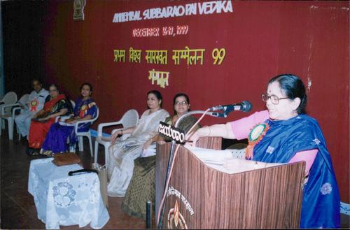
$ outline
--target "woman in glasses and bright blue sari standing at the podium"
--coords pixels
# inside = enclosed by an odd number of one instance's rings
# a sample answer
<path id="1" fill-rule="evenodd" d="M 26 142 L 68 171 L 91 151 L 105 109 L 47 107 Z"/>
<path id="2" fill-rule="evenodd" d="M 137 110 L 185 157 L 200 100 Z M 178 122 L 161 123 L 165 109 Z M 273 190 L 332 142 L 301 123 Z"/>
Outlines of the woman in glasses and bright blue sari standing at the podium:
<path id="1" fill-rule="evenodd" d="M 304 83 L 290 74 L 276 76 L 269 80 L 262 101 L 267 110 L 198 129 L 190 140 L 195 145 L 202 136 L 248 138 L 246 159 L 253 161 L 242 160 L 240 164 L 306 161 L 300 228 L 339 228 L 340 200 L 335 172 L 318 122 L 304 114 L 307 103 Z"/>

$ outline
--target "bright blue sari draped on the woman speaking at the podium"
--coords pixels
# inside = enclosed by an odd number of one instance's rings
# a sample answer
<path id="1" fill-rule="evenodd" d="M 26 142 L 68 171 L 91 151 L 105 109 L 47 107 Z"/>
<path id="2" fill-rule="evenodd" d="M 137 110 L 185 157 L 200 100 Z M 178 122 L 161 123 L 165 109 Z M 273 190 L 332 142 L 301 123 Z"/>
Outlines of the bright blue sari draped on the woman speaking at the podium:
<path id="1" fill-rule="evenodd" d="M 255 145 L 253 160 L 287 163 L 296 152 L 317 149 L 303 186 L 300 228 L 339 228 L 340 197 L 330 153 L 318 122 L 307 115 L 267 120 L 269 130 Z"/>

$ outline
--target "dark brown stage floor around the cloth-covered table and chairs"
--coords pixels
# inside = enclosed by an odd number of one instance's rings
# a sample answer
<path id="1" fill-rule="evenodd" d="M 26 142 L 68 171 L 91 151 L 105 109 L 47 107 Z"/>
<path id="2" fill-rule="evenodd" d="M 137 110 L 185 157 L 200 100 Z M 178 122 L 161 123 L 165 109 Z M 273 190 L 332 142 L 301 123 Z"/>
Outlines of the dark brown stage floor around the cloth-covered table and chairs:
<path id="1" fill-rule="evenodd" d="M 45 224 L 38 220 L 34 199 L 28 192 L 28 172 L 32 159 L 26 153 L 27 140 L 8 140 L 7 130 L 0 136 L 0 166 L 1 166 L 1 229 L 45 229 Z M 84 152 L 78 152 L 84 168 L 90 168 L 93 158 L 87 140 Z M 223 145 L 225 142 L 223 142 Z M 99 162 L 104 161 L 103 148 L 99 148 Z M 103 229 L 145 229 L 146 221 L 130 217 L 121 211 L 123 198 L 109 197 L 109 222 Z M 349 229 L 349 215 L 342 215 L 342 228 Z M 154 216 L 153 216 L 154 227 Z M 61 229 L 79 229 L 78 225 Z M 80 229 L 91 229 L 90 225 Z"/>

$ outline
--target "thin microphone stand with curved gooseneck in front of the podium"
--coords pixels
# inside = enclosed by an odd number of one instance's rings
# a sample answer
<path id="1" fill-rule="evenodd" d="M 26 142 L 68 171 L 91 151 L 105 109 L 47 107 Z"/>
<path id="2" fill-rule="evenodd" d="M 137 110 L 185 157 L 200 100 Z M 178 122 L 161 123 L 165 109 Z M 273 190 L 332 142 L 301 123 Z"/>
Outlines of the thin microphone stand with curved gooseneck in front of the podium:
<path id="1" fill-rule="evenodd" d="M 206 111 L 204 110 L 193 110 L 187 113 L 184 113 L 181 117 L 179 117 L 179 119 L 175 122 L 174 127 L 178 127 L 181 120 L 183 120 L 183 118 L 188 117 L 189 115 L 193 115 L 193 114 L 204 114 L 206 113 Z M 213 117 L 226 117 L 226 114 L 223 113 L 216 113 L 216 112 L 208 112 L 208 115 L 211 115 Z M 165 175 L 165 185 L 164 185 L 164 192 L 165 189 L 167 189 L 167 180 L 169 178 L 169 173 L 170 173 L 170 169 L 172 168 L 172 162 L 174 161 L 174 147 L 175 147 L 175 140 L 172 140 L 172 145 L 170 146 L 170 154 L 169 154 L 169 161 L 168 161 L 168 168 L 167 168 L 167 174 Z M 164 195 L 164 194 L 163 194 Z M 165 203 L 167 203 L 167 196 L 165 196 L 165 202 L 163 203 L 162 207 L 160 208 L 160 218 L 159 218 L 159 222 L 158 222 L 158 229 L 162 229 L 162 225 L 163 225 L 163 215 L 164 215 L 164 210 L 165 210 Z"/>

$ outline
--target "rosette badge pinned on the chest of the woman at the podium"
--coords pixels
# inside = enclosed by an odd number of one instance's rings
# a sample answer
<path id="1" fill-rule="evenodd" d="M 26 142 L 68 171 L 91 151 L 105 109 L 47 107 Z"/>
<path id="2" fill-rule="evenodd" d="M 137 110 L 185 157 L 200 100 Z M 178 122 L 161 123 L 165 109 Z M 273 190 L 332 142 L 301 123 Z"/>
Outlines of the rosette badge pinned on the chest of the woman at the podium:
<path id="1" fill-rule="evenodd" d="M 253 158 L 254 146 L 258 144 L 262 137 L 265 136 L 267 130 L 269 130 L 269 124 L 262 123 L 256 124 L 248 134 L 248 146 L 246 147 L 246 159 Z"/>

